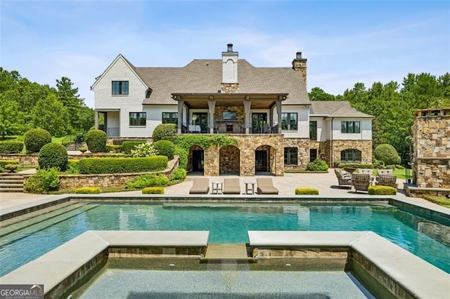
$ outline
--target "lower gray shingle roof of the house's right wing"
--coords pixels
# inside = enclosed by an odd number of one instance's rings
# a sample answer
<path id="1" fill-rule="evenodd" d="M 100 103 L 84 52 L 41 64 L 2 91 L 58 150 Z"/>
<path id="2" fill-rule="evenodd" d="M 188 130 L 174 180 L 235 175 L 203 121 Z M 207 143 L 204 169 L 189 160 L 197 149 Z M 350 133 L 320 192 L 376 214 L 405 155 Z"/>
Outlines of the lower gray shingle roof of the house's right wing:
<path id="1" fill-rule="evenodd" d="M 359 112 L 348 101 L 311 101 L 312 114 L 330 117 L 354 117 L 360 119 L 374 119 L 373 115 Z"/>

